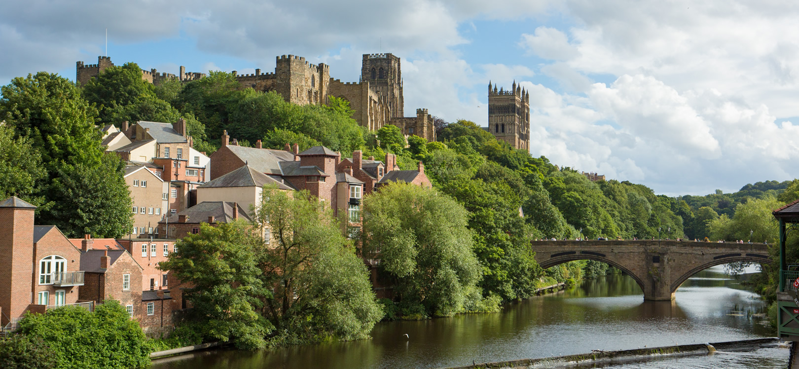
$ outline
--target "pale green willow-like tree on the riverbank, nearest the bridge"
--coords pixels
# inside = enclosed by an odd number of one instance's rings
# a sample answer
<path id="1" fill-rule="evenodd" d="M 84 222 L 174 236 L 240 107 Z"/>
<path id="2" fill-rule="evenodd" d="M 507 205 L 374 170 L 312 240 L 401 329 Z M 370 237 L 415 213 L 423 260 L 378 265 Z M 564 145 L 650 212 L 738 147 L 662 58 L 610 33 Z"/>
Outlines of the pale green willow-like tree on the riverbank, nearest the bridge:
<path id="1" fill-rule="evenodd" d="M 480 267 L 463 206 L 435 189 L 394 183 L 364 199 L 364 214 L 364 248 L 380 251 L 406 311 L 454 315 L 475 298 Z"/>

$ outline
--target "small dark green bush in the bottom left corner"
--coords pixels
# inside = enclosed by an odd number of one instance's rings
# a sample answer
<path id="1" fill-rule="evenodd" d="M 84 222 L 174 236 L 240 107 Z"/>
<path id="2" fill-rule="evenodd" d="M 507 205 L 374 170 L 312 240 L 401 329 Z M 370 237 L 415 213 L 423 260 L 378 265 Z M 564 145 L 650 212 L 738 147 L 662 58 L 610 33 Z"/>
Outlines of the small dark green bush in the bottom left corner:
<path id="1" fill-rule="evenodd" d="M 0 338 L 0 367 L 6 369 L 50 369 L 58 362 L 44 340 L 27 335 Z"/>

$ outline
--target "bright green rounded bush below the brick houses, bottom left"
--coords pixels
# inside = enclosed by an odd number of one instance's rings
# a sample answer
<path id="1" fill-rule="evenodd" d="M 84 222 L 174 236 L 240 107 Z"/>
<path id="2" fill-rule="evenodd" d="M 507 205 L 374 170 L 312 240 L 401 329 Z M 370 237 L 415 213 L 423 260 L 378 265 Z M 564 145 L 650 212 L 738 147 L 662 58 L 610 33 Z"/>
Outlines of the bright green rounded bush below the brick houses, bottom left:
<path id="1" fill-rule="evenodd" d="M 94 312 L 66 306 L 45 314 L 27 314 L 18 333 L 41 339 L 50 347 L 58 369 L 149 365 L 145 334 L 117 300 L 105 300 Z"/>

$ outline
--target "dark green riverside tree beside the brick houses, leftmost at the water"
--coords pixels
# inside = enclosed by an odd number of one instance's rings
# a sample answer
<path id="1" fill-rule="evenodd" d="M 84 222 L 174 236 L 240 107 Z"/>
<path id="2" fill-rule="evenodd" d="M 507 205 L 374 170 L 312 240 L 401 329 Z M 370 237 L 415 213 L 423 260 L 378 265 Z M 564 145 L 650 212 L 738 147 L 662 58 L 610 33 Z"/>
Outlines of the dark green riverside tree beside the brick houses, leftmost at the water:
<path id="1" fill-rule="evenodd" d="M 202 223 L 200 233 L 178 240 L 178 251 L 159 267 L 192 286 L 183 292 L 193 305 L 189 327 L 205 339 L 253 350 L 266 345 L 273 327 L 258 312 L 272 296 L 260 268 L 267 251 L 250 228 L 241 221 Z"/>

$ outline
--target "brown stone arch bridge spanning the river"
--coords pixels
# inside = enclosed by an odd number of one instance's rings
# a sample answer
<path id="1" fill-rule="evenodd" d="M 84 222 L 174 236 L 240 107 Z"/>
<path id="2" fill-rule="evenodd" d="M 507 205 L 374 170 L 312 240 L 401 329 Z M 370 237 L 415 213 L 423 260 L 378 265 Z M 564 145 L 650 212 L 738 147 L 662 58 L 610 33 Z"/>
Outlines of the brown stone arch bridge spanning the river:
<path id="1" fill-rule="evenodd" d="M 766 244 L 674 240 L 532 241 L 535 261 L 550 268 L 572 260 L 596 260 L 621 269 L 638 282 L 644 300 L 673 300 L 690 276 L 734 261 L 769 264 Z"/>

